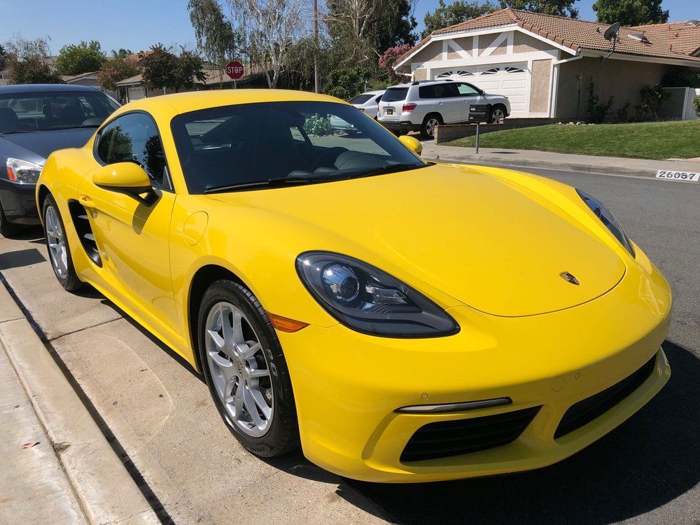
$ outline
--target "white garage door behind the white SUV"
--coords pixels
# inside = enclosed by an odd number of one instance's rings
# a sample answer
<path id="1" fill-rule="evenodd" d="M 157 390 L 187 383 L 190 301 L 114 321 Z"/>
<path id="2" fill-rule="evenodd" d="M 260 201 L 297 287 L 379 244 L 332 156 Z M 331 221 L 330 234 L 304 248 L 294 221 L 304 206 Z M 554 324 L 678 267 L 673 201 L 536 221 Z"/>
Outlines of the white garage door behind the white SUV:
<path id="1" fill-rule="evenodd" d="M 523 118 L 529 104 L 527 62 L 494 66 L 435 69 L 435 80 L 464 80 L 487 93 L 503 94 L 510 100 L 510 116 Z"/>

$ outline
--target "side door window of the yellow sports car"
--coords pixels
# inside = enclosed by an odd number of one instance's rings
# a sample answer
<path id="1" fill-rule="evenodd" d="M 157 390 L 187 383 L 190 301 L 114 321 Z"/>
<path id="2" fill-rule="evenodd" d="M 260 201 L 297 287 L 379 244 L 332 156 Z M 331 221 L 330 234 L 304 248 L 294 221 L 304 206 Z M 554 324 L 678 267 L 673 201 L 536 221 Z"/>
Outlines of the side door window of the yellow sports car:
<path id="1" fill-rule="evenodd" d="M 165 152 L 150 116 L 128 113 L 118 117 L 99 132 L 97 141 L 97 156 L 102 162 L 136 162 L 155 186 L 163 187 Z"/>

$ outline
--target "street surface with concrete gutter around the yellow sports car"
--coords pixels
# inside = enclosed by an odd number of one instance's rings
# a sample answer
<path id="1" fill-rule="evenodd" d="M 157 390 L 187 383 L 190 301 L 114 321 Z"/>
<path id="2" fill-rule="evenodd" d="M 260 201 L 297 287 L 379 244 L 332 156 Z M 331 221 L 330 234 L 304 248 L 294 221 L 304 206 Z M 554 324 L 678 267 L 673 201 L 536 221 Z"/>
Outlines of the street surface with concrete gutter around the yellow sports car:
<path id="1" fill-rule="evenodd" d="M 699 524 L 700 184 L 538 173 L 605 202 L 675 302 L 666 388 L 603 440 L 534 472 L 380 485 L 300 454 L 260 461 L 174 353 L 99 294 L 59 287 L 38 232 L 0 238 L 0 272 L 176 523 Z"/>

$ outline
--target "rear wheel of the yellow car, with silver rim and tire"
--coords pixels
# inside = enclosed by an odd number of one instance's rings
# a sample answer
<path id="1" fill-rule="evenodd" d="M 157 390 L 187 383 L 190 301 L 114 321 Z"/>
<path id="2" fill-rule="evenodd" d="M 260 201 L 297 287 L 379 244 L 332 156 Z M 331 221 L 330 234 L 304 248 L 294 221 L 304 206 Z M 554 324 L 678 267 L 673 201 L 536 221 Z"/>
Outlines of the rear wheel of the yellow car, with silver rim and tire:
<path id="1" fill-rule="evenodd" d="M 43 202 L 43 225 L 48 257 L 61 286 L 69 292 L 75 292 L 85 287 L 85 283 L 78 279 L 71 249 L 66 239 L 66 227 L 58 211 L 56 201 L 51 195 L 47 195 Z"/>

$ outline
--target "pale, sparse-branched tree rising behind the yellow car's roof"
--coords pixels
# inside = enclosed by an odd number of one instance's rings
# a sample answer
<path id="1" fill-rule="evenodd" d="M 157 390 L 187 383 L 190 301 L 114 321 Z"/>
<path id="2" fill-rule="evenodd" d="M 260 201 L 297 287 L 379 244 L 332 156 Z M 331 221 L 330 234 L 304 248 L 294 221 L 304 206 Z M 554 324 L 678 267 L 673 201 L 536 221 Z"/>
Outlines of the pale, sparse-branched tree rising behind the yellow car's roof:
<path id="1" fill-rule="evenodd" d="M 353 0 L 349 0 L 353 1 Z M 302 33 L 302 0 L 229 0 L 232 29 L 248 59 L 276 87 L 294 41 Z"/>

